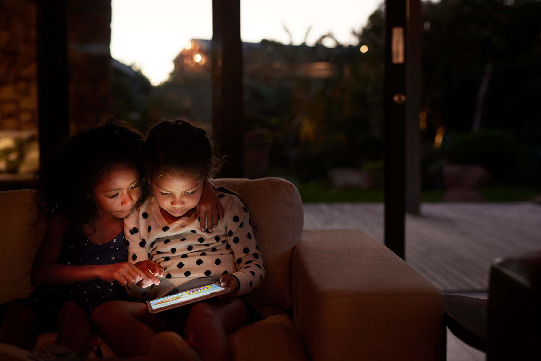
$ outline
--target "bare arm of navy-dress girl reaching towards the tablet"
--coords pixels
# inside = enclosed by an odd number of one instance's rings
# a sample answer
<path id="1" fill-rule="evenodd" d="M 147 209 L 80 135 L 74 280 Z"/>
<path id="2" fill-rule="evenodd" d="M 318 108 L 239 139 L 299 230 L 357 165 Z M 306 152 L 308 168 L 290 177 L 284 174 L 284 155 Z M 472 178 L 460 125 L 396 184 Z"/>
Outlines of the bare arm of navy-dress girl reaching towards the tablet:
<path id="1" fill-rule="evenodd" d="M 61 222 L 62 216 L 58 212 L 53 214 L 47 222 L 43 241 L 38 247 L 30 270 L 32 286 L 60 286 L 94 279 L 107 282 L 118 281 L 121 285 L 133 284 L 141 280 L 154 281 L 129 262 L 89 266 L 57 264 L 62 252 L 62 240 L 65 237 Z"/>

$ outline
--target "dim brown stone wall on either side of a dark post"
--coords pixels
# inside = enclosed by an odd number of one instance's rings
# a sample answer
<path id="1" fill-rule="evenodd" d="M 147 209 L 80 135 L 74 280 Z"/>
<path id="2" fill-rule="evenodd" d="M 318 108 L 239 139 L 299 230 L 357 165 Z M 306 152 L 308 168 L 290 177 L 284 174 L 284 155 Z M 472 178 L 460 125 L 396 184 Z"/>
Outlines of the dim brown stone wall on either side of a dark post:
<path id="1" fill-rule="evenodd" d="M 110 0 L 68 0 L 71 132 L 110 116 Z M 0 129 L 36 129 L 36 0 L 0 2 Z"/>

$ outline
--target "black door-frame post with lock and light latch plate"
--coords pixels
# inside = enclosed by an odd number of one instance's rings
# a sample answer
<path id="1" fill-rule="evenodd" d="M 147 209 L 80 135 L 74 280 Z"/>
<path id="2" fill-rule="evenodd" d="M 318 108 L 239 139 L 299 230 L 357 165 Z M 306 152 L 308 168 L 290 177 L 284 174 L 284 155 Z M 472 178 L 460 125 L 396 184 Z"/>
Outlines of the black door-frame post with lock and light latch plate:
<path id="1" fill-rule="evenodd" d="M 384 135 L 385 245 L 404 258 L 406 207 L 406 1 L 386 0 Z"/>

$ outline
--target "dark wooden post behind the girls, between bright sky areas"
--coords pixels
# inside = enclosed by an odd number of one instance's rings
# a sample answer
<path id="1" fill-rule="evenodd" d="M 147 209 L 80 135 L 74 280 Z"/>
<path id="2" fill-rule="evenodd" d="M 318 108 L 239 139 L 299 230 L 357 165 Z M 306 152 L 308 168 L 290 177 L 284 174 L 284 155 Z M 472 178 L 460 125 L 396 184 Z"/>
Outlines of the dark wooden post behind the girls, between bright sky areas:
<path id="1" fill-rule="evenodd" d="M 240 0 L 213 0 L 212 124 L 220 152 L 227 154 L 220 176 L 243 176 L 244 109 Z"/>

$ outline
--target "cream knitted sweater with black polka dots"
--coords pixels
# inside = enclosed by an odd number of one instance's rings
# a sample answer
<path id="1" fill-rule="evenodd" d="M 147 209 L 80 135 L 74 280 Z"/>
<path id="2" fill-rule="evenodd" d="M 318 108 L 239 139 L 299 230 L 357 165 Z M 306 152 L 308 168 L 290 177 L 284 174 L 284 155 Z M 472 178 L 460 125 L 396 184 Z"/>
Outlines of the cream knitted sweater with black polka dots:
<path id="1" fill-rule="evenodd" d="M 237 196 L 216 194 L 225 216 L 212 233 L 201 231 L 193 215 L 168 224 L 154 196 L 149 196 L 124 219 L 129 260 L 134 264 L 147 259 L 159 263 L 164 269 L 163 279 L 168 281 L 164 284 L 170 282 L 174 287 L 227 273 L 239 280 L 239 296 L 260 287 L 265 268 L 248 211 Z"/>

